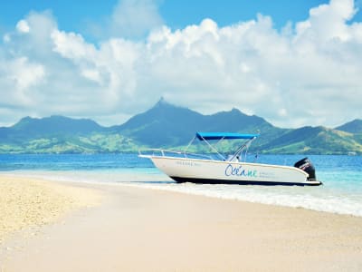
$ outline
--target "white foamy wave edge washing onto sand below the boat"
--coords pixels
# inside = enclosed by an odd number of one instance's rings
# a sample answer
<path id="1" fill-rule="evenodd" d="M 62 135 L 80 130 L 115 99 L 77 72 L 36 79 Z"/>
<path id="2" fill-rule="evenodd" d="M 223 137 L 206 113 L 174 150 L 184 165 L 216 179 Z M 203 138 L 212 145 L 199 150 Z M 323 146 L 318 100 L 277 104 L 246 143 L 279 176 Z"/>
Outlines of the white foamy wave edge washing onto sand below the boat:
<path id="1" fill-rule="evenodd" d="M 219 199 L 244 200 L 362 217 L 361 196 L 347 198 L 346 196 L 318 194 L 300 187 L 281 189 L 281 186 L 265 188 L 262 186 L 200 185 L 191 183 L 170 183 L 162 185 L 149 183 L 132 185 L 149 189 L 166 189 Z"/>

